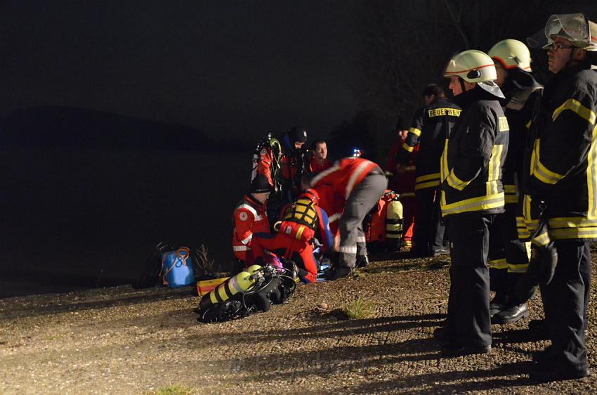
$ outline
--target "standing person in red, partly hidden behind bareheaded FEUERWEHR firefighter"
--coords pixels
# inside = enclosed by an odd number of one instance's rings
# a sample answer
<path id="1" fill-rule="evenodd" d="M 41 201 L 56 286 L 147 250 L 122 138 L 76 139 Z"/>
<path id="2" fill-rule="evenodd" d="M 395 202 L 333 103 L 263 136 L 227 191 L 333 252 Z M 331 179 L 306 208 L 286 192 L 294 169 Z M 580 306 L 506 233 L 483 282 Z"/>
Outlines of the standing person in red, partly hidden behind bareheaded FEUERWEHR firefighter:
<path id="1" fill-rule="evenodd" d="M 417 117 L 415 116 L 415 119 Z M 414 196 L 415 160 L 417 153 L 419 153 L 419 144 L 414 145 L 412 155 L 405 164 L 398 164 L 398 153 L 408 136 L 408 129 L 406 129 L 402 118 L 398 119 L 396 129 L 398 130 L 398 138 L 388 154 L 388 164 L 386 165 L 386 169 L 392 173 L 388 185 L 391 190 L 400 195 L 400 203 L 402 203 L 402 242 L 404 242 L 405 247 L 412 247 L 414 221 L 417 214 Z"/>

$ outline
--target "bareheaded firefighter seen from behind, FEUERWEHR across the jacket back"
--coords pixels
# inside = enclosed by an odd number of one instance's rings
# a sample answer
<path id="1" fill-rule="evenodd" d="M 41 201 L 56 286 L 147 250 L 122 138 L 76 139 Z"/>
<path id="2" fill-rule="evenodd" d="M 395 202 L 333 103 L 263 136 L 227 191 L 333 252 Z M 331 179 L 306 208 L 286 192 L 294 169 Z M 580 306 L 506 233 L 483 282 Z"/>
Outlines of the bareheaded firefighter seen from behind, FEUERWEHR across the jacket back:
<path id="1" fill-rule="evenodd" d="M 435 257 L 446 253 L 443 246 L 445 226 L 440 214 L 440 157 L 445 138 L 460 116 L 460 108 L 446 100 L 440 86 L 431 84 L 423 91 L 425 107 L 417 112 L 404 145 L 398 151 L 398 163 L 407 164 L 417 144 L 414 193 L 417 214 L 414 222 L 414 254 Z"/>

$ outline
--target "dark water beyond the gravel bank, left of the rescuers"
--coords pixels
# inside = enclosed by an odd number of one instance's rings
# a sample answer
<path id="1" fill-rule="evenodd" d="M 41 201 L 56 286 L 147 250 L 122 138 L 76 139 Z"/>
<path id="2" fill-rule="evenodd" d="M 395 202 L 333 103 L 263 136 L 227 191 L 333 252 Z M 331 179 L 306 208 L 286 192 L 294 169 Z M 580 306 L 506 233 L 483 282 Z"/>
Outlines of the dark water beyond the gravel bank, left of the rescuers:
<path id="1" fill-rule="evenodd" d="M 0 151 L 0 297 L 126 284 L 158 242 L 230 268 L 232 209 L 251 154 Z"/>

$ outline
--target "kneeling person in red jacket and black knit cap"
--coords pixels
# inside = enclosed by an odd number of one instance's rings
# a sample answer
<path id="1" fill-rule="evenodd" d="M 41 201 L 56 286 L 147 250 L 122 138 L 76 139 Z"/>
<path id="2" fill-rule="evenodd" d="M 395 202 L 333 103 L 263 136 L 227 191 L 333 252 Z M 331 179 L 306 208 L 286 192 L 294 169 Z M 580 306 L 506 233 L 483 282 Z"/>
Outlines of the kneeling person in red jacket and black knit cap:
<path id="1" fill-rule="evenodd" d="M 271 186 L 268 179 L 258 174 L 245 195 L 237 203 L 234 211 L 234 231 L 232 232 L 232 251 L 235 257 L 249 266 L 254 261 L 251 250 L 254 233 L 269 233 L 270 224 L 267 214 L 267 200 Z"/>

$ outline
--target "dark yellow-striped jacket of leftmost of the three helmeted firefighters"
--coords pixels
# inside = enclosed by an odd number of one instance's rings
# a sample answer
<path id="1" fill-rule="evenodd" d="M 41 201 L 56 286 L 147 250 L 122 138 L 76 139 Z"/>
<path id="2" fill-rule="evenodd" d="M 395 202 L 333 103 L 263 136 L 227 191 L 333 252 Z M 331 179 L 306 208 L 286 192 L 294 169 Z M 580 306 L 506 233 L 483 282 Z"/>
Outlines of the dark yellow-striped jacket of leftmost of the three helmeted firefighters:
<path id="1" fill-rule="evenodd" d="M 504 212 L 501 169 L 508 151 L 508 121 L 499 99 L 475 86 L 457 96 L 463 111 L 441 157 L 442 216 Z"/>

